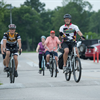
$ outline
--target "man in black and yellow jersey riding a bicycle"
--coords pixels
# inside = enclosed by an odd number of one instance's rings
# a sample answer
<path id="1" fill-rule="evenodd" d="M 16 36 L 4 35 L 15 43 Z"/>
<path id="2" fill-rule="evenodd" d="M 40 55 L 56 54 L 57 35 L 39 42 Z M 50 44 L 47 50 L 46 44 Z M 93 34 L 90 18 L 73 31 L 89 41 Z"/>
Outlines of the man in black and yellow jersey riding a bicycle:
<path id="1" fill-rule="evenodd" d="M 9 32 L 6 32 L 3 36 L 4 52 L 6 52 L 6 57 L 5 57 L 6 68 L 5 68 L 5 71 L 9 71 L 9 67 L 8 67 L 9 59 L 8 58 L 9 58 L 9 55 L 10 55 L 10 48 L 15 48 L 16 49 L 14 51 L 15 77 L 18 77 L 18 73 L 17 73 L 17 66 L 18 66 L 17 56 L 18 56 L 18 50 L 22 51 L 22 49 L 21 49 L 21 37 L 17 32 L 15 32 L 15 30 L 16 30 L 16 25 L 15 24 L 10 24 L 8 27 L 9 27 Z M 17 42 L 18 42 L 18 45 L 19 45 L 19 49 L 17 47 Z"/>

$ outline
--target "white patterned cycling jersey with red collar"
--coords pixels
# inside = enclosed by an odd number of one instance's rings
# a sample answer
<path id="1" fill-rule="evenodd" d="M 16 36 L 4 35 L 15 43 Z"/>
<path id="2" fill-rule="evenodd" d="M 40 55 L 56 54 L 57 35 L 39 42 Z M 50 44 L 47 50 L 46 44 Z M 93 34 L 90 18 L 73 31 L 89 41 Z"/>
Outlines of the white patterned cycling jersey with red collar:
<path id="1" fill-rule="evenodd" d="M 66 40 L 66 41 L 70 41 L 70 40 L 73 40 L 74 39 L 74 36 L 76 36 L 76 33 L 80 31 L 78 26 L 77 25 L 74 25 L 74 24 L 70 24 L 69 27 L 67 27 L 65 24 L 62 25 L 59 29 L 59 32 L 63 33 L 66 35 L 66 37 L 69 39 L 69 40 Z M 64 35 L 61 35 L 62 38 L 64 38 Z"/>

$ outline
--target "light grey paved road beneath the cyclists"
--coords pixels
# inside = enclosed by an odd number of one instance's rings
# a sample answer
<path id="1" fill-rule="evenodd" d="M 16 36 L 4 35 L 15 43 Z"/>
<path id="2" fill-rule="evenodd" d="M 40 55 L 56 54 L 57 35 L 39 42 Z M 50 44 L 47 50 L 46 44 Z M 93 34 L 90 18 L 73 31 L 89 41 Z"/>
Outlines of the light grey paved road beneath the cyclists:
<path id="1" fill-rule="evenodd" d="M 81 60 L 82 78 L 75 83 L 73 77 L 66 82 L 60 70 L 57 78 L 38 74 L 38 54 L 23 53 L 19 56 L 18 73 L 14 84 L 3 72 L 0 55 L 0 100 L 100 100 L 100 63 Z"/>

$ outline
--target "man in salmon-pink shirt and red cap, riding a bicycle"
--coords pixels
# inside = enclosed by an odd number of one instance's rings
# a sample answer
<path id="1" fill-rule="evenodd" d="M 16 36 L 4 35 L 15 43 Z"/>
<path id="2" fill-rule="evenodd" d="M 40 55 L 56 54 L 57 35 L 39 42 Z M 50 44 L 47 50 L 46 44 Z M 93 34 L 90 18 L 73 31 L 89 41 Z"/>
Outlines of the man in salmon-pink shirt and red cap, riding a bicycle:
<path id="1" fill-rule="evenodd" d="M 51 31 L 50 32 L 50 36 L 47 37 L 46 41 L 45 41 L 45 46 L 46 46 L 46 61 L 47 61 L 47 68 L 49 69 L 49 59 L 50 59 L 50 53 L 51 51 L 55 51 L 54 55 L 55 55 L 55 60 L 58 66 L 58 54 L 57 54 L 57 49 L 58 49 L 58 44 L 59 44 L 59 48 L 61 48 L 61 43 L 60 40 L 58 39 L 58 37 L 55 36 L 55 31 Z M 58 72 L 58 69 L 57 69 Z"/>

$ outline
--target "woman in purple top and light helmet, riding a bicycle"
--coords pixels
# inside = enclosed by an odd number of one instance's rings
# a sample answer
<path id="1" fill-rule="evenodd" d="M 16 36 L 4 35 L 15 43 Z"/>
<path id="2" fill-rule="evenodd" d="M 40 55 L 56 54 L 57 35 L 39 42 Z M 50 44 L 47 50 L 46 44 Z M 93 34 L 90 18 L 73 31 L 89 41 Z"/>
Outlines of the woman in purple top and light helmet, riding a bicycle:
<path id="1" fill-rule="evenodd" d="M 46 37 L 41 36 L 41 42 L 38 43 L 38 46 L 36 48 L 36 52 L 39 52 L 39 50 L 45 51 L 45 48 L 44 48 L 45 40 L 46 40 Z M 39 52 L 38 58 L 39 58 L 39 73 L 41 74 L 41 71 L 42 71 L 42 68 L 41 68 L 42 52 Z"/>

